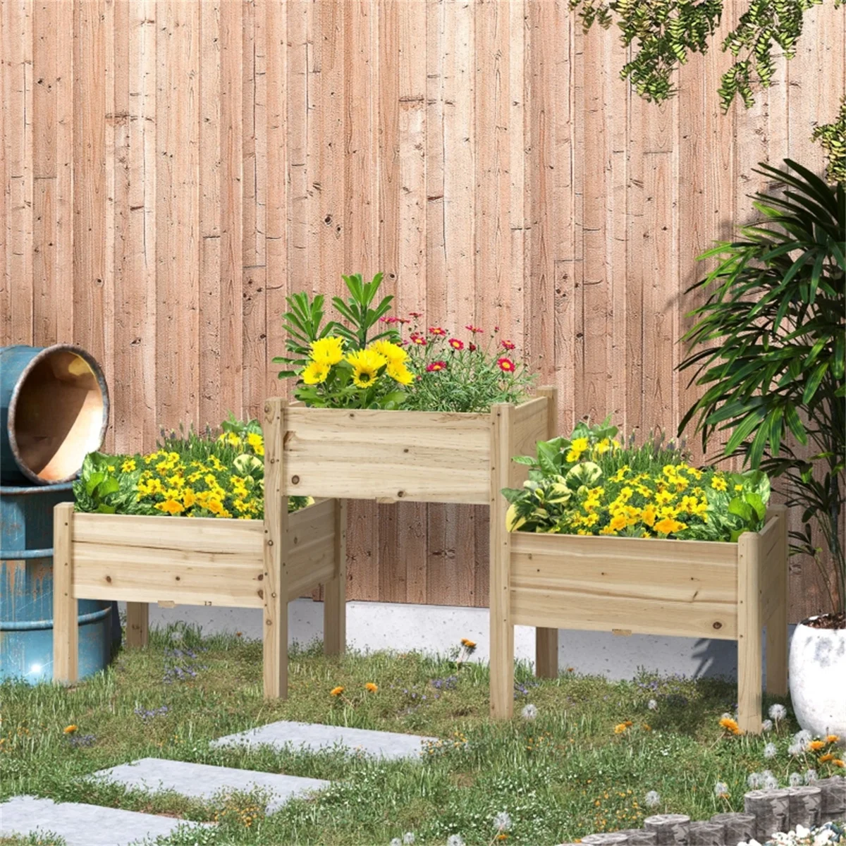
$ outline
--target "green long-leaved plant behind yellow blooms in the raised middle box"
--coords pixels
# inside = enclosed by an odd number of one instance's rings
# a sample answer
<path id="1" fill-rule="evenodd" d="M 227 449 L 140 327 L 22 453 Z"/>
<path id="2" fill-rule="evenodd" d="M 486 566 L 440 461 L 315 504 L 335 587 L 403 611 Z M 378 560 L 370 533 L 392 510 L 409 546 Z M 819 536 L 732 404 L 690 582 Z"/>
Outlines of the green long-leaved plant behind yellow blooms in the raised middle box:
<path id="1" fill-rule="evenodd" d="M 277 355 L 272 361 L 274 364 L 291 366 L 288 370 L 279 371 L 278 377 L 299 376 L 309 363 L 311 344 L 321 338 L 332 335 L 343 338 L 345 349 L 350 351 L 365 349 L 369 343 L 380 338 L 398 340 L 397 332 L 393 329 L 377 332 L 368 338 L 368 333 L 387 314 L 393 301 L 393 296 L 389 295 L 383 297 L 375 308 L 371 307 L 383 277 L 383 273 L 376 273 L 368 283 L 365 283 L 360 273 L 342 277 L 349 290 L 349 299 L 344 301 L 341 297 L 332 297 L 332 305 L 349 326 L 339 321 L 329 321 L 323 325 L 323 304 L 326 299 L 323 294 L 317 294 L 314 299 L 305 292 L 286 297 L 289 310 L 283 315 L 283 329 L 288 333 L 285 340 L 288 355 Z"/>

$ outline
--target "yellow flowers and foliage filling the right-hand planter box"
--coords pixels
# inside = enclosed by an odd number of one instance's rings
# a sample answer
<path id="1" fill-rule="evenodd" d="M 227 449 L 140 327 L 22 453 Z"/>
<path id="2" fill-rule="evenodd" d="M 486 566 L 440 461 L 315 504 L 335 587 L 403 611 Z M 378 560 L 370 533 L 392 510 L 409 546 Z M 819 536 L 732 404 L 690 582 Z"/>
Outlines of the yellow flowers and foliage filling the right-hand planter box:
<path id="1" fill-rule="evenodd" d="M 510 531 L 736 541 L 764 525 L 770 484 L 760 470 L 688 464 L 683 448 L 653 437 L 621 444 L 608 420 L 537 444 L 522 488 L 505 488 Z"/>

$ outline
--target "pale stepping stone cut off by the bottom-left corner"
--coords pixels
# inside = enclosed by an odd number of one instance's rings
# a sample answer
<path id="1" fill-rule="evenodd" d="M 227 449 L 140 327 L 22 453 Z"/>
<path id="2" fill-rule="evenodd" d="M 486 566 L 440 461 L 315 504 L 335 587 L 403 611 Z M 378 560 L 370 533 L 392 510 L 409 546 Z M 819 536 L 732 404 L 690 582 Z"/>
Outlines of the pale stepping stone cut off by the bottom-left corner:
<path id="1" fill-rule="evenodd" d="M 0 804 L 0 836 L 52 832 L 64 838 L 68 846 L 129 846 L 145 838 L 168 835 L 184 825 L 208 824 L 35 796 L 15 796 Z"/>

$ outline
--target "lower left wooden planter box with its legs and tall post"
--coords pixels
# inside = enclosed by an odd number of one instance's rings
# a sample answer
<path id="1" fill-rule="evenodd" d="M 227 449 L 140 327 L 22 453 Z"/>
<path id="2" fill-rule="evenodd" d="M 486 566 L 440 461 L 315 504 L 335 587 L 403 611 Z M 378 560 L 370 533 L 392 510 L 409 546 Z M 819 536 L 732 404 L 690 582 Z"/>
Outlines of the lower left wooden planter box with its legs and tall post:
<path id="1" fill-rule="evenodd" d="M 282 493 L 283 400 L 265 406 L 263 520 L 77 514 L 53 510 L 53 678 L 78 677 L 80 598 L 127 602 L 127 640 L 146 645 L 148 603 L 264 612 L 264 692 L 288 688 L 288 602 L 324 586 L 324 649 L 343 651 L 346 506 L 327 499 L 288 514 Z"/>

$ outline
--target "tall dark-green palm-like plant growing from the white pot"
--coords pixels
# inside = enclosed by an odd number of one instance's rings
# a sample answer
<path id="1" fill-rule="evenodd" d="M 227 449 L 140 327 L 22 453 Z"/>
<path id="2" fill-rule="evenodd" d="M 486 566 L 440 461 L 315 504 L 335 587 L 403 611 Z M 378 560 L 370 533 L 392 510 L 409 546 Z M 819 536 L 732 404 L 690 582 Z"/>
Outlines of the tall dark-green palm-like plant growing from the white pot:
<path id="1" fill-rule="evenodd" d="M 741 229 L 744 239 L 700 256 L 719 263 L 689 289 L 708 297 L 690 313 L 696 323 L 679 367 L 706 391 L 679 431 L 695 420 L 703 447 L 725 433 L 726 455 L 786 482 L 788 505 L 803 508 L 803 529 L 791 532 L 794 552 L 821 563 L 816 525 L 834 562 L 833 574 L 823 569 L 832 603 L 843 610 L 846 190 L 785 164 L 794 173 L 761 165 L 758 173 L 777 186 L 755 195 L 761 217 Z M 791 435 L 810 456 L 797 453 Z"/>

